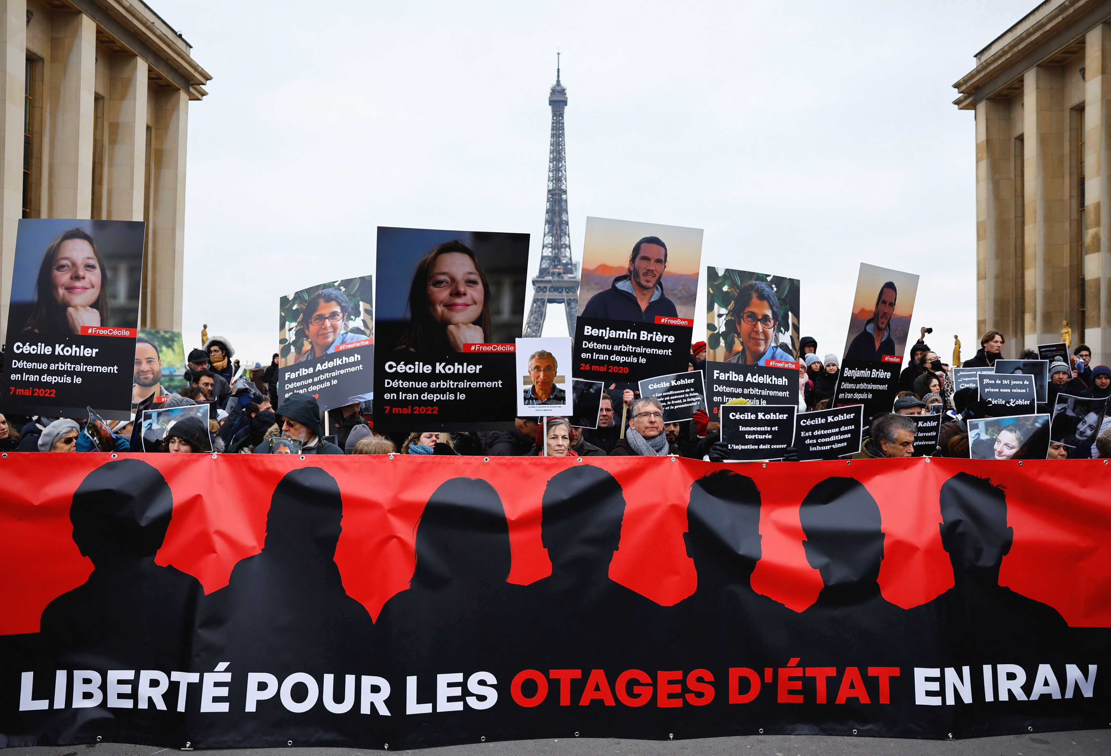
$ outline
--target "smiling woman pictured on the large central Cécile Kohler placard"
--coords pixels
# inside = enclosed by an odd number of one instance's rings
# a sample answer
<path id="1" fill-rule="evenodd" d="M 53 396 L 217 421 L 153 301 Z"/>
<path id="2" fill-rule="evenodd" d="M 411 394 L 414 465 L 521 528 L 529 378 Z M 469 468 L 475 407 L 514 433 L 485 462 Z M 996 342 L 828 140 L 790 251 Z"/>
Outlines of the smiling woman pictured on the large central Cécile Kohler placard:
<path id="1" fill-rule="evenodd" d="M 410 352 L 462 352 L 490 343 L 490 283 L 474 252 L 444 242 L 417 264 L 409 288 L 409 325 L 398 340 Z"/>

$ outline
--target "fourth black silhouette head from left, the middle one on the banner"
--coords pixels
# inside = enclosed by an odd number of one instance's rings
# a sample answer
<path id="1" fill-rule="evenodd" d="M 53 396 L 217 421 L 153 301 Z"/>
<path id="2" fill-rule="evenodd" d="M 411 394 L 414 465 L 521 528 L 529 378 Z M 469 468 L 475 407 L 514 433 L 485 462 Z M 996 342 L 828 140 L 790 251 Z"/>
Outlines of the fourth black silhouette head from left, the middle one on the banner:
<path id="1" fill-rule="evenodd" d="M 552 574 L 605 571 L 621 543 L 624 495 L 617 480 L 592 465 L 570 467 L 548 481 L 540 537 Z"/>

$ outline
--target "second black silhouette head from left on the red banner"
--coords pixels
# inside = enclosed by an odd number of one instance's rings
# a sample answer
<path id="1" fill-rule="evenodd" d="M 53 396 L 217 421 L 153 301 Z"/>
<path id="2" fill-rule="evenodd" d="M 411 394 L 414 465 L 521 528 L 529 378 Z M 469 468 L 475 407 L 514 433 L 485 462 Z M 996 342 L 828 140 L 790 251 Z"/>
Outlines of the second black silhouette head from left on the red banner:
<path id="1" fill-rule="evenodd" d="M 300 563 L 331 562 L 342 531 L 343 498 L 320 467 L 287 473 L 274 487 L 263 552 Z"/>

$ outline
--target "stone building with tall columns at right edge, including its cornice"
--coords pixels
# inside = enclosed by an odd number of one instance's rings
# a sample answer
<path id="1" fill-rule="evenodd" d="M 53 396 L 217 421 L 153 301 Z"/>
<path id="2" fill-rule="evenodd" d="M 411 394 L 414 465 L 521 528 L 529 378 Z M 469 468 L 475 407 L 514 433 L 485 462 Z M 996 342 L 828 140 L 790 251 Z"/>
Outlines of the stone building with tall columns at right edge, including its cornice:
<path id="1" fill-rule="evenodd" d="M 975 111 L 979 333 L 1003 332 L 1015 357 L 1067 321 L 1108 364 L 1111 2 L 1047 0 L 953 87 Z"/>

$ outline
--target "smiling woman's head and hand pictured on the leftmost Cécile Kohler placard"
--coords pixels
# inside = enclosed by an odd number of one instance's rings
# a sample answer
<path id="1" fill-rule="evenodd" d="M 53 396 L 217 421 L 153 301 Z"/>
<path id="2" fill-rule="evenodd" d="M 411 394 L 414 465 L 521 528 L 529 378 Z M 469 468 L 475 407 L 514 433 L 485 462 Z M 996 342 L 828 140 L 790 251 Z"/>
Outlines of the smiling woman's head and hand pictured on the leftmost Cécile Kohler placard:
<path id="1" fill-rule="evenodd" d="M 70 229 L 50 242 L 34 283 L 34 306 L 24 331 L 80 334 L 108 321 L 108 274 L 87 232 Z"/>

